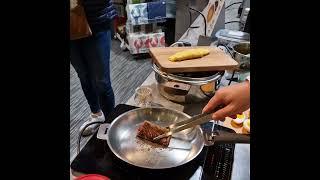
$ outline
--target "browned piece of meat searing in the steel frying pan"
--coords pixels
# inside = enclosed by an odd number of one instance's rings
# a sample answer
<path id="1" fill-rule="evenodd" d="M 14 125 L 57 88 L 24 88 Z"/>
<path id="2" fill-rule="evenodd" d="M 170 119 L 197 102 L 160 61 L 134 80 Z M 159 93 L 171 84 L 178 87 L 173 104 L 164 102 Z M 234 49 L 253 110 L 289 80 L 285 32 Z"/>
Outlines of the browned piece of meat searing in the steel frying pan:
<path id="1" fill-rule="evenodd" d="M 162 128 L 156 124 L 153 124 L 149 121 L 144 121 L 142 125 L 138 128 L 137 136 L 148 141 L 160 144 L 162 146 L 168 147 L 170 143 L 171 136 L 161 138 L 154 141 L 153 138 L 168 132 L 166 128 Z"/>

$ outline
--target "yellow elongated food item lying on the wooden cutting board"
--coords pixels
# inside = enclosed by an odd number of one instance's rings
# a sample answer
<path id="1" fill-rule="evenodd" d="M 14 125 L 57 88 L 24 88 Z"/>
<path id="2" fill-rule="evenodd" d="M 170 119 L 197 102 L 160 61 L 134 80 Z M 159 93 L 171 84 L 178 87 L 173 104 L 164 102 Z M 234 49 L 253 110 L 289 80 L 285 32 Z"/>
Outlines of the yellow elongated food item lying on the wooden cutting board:
<path id="1" fill-rule="evenodd" d="M 175 53 L 174 55 L 169 57 L 170 61 L 183 61 L 187 59 L 196 59 L 206 56 L 210 53 L 208 49 L 197 48 L 197 49 L 188 49 L 184 51 L 180 51 Z"/>

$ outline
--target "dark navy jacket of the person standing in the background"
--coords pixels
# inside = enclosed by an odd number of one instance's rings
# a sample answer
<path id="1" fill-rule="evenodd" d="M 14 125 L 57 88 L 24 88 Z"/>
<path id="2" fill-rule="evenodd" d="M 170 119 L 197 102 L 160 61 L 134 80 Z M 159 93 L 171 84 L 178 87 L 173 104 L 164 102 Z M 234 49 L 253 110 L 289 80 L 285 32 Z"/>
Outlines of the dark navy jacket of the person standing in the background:
<path id="1" fill-rule="evenodd" d="M 111 20 L 117 16 L 111 0 L 82 0 L 81 3 L 93 33 L 111 28 Z"/>

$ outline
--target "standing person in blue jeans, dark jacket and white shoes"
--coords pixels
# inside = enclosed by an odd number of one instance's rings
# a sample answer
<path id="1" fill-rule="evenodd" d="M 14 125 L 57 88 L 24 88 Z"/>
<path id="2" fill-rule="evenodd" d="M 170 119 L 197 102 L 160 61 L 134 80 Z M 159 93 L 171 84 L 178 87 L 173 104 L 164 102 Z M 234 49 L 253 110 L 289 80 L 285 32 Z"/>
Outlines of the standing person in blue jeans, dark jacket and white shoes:
<path id="1" fill-rule="evenodd" d="M 92 36 L 70 41 L 71 64 L 80 79 L 90 106 L 91 122 L 104 121 L 114 108 L 114 93 L 110 80 L 111 21 L 116 11 L 110 0 L 83 0 Z M 83 135 L 91 135 L 98 124 L 87 127 Z"/>

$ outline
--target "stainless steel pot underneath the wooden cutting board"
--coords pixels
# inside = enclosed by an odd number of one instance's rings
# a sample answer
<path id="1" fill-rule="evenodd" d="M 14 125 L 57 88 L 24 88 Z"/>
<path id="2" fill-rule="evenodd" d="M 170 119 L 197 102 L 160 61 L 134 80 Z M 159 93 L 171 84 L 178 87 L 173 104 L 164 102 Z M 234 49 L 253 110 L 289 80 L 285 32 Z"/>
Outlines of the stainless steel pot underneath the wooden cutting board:
<path id="1" fill-rule="evenodd" d="M 218 89 L 224 72 L 170 74 L 152 64 L 158 89 L 162 96 L 178 103 L 194 103 L 209 100 Z"/>

